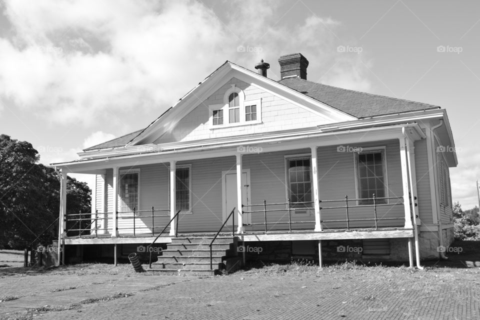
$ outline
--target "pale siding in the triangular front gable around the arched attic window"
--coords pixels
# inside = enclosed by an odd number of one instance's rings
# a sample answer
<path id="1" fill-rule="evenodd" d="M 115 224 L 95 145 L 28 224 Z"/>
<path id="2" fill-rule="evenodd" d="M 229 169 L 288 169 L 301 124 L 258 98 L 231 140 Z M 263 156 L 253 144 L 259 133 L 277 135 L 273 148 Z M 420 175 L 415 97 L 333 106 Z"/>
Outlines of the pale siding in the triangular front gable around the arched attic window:
<path id="1" fill-rule="evenodd" d="M 235 84 L 243 90 L 245 101 L 261 98 L 261 123 L 240 126 L 210 128 L 210 110 L 208 105 L 223 103 L 224 93 Z M 281 97 L 274 96 L 252 84 L 231 78 L 196 108 L 186 114 L 175 127 L 160 136 L 153 143 L 191 141 L 241 134 L 261 133 L 277 130 L 314 127 L 331 123 L 330 119 L 292 104 Z"/>

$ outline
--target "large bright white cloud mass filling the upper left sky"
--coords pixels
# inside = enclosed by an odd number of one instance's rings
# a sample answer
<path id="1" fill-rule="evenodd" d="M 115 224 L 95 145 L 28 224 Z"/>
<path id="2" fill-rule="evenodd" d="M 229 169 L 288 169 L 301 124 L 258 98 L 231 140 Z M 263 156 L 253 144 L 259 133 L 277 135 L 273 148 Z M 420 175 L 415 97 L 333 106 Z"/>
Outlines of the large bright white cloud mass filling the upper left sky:
<path id="1" fill-rule="evenodd" d="M 198 1 L 5 1 L 12 31 L 0 37 L 0 99 L 54 123 L 126 127 L 131 112 L 154 118 L 226 59 L 253 68 L 291 52 L 310 60 L 312 80 L 369 88 L 358 56 L 333 50 L 339 21 L 312 13 L 278 23 L 288 12 L 272 0 L 222 5 L 217 15 Z"/>

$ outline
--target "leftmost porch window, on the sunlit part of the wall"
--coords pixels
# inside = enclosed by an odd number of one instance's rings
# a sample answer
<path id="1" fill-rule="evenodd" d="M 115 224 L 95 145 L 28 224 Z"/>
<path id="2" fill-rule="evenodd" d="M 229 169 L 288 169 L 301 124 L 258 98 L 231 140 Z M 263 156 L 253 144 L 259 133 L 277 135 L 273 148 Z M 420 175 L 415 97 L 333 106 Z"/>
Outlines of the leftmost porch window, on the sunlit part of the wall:
<path id="1" fill-rule="evenodd" d="M 131 212 L 133 208 L 139 208 L 139 170 L 120 171 L 120 210 L 119 212 Z"/>

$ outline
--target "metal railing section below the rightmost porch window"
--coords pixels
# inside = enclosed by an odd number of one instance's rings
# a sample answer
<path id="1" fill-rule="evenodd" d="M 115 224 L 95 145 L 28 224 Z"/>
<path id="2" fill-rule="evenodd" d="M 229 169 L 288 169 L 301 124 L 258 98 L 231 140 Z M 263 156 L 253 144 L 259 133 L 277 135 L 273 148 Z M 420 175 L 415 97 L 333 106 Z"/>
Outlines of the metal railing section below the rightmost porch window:
<path id="1" fill-rule="evenodd" d="M 390 199 L 395 199 L 396 202 L 394 203 L 388 203 L 387 200 Z M 376 197 L 375 194 L 372 194 L 371 198 L 353 198 L 349 199 L 347 195 L 343 199 L 338 199 L 338 200 L 320 200 L 320 216 L 321 216 L 321 211 L 326 210 L 326 209 L 345 209 L 345 219 L 333 219 L 333 220 L 322 220 L 320 219 L 320 223 L 325 223 L 325 222 L 346 222 L 346 229 L 350 230 L 350 222 L 357 222 L 357 221 L 374 221 L 374 228 L 375 230 L 378 230 L 378 221 L 380 220 L 399 220 L 403 219 L 404 217 L 378 217 L 378 212 L 377 212 L 377 207 L 382 207 L 382 206 L 394 206 L 401 204 L 403 205 L 403 197 L 399 196 L 390 196 L 390 197 Z M 348 201 L 358 201 L 358 203 L 361 202 L 367 202 L 366 204 L 353 204 L 349 205 Z M 371 201 L 371 203 L 369 203 Z M 337 206 L 327 206 L 327 207 L 321 207 L 322 203 L 331 203 L 331 202 L 344 202 L 344 205 L 337 205 Z M 350 210 L 352 208 L 361 208 L 361 207 L 372 207 L 373 208 L 373 217 L 371 218 L 350 218 Z"/>

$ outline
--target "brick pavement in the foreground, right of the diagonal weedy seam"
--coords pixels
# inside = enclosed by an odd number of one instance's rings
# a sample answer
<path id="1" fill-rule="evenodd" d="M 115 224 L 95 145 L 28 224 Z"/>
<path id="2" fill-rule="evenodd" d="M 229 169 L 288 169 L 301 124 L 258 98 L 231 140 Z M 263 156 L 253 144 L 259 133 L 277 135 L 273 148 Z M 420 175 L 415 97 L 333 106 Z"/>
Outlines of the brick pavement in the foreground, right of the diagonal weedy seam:
<path id="1" fill-rule="evenodd" d="M 478 269 L 238 272 L 183 281 L 43 319 L 479 319 Z M 165 276 L 148 276 L 148 285 Z M 145 278 L 145 277 L 144 277 Z M 67 292 L 67 291 L 65 291 Z M 69 293 L 68 293 L 69 294 Z M 50 303 L 53 304 L 53 303 Z M 36 317 L 35 317 L 36 318 Z"/>

